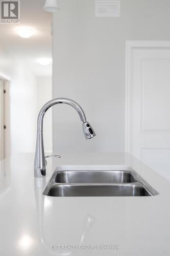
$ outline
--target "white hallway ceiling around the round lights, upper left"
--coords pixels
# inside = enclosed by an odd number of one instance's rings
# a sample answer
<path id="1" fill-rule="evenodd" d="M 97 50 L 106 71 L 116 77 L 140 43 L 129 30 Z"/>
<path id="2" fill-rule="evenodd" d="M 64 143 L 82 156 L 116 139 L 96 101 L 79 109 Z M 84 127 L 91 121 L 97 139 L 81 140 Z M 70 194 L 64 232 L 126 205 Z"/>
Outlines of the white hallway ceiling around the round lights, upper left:
<path id="1" fill-rule="evenodd" d="M 52 64 L 41 66 L 37 58 L 52 57 L 52 14 L 43 10 L 45 0 L 20 0 L 20 25 L 0 25 L 1 44 L 23 60 L 36 76 L 52 75 Z M 19 26 L 32 27 L 30 38 L 16 34 Z"/>

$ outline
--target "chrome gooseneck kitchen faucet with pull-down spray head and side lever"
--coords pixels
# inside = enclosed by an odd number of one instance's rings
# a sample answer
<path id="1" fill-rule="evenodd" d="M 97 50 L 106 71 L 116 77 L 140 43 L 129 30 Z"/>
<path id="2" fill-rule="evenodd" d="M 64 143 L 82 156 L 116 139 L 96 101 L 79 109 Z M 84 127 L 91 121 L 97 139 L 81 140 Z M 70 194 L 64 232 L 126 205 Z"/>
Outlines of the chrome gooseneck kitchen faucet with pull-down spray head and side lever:
<path id="1" fill-rule="evenodd" d="M 83 132 L 84 136 L 86 139 L 91 139 L 95 136 L 95 133 L 91 127 L 91 125 L 86 121 L 86 116 L 81 108 L 81 106 L 71 100 L 71 99 L 66 99 L 66 98 L 57 98 L 48 101 L 40 110 L 38 114 L 38 120 L 37 120 L 37 141 L 36 141 L 36 150 L 35 150 L 35 161 L 34 161 L 34 177 L 36 178 L 43 178 L 46 175 L 46 170 L 45 166 L 47 164 L 45 158 L 48 157 L 58 157 L 60 156 L 57 155 L 51 155 L 51 156 L 46 156 L 44 155 L 44 145 L 43 145 L 43 118 L 48 109 L 51 108 L 51 106 L 60 104 L 60 103 L 65 103 L 70 106 L 72 106 L 79 114 L 80 120 L 83 123 Z"/>

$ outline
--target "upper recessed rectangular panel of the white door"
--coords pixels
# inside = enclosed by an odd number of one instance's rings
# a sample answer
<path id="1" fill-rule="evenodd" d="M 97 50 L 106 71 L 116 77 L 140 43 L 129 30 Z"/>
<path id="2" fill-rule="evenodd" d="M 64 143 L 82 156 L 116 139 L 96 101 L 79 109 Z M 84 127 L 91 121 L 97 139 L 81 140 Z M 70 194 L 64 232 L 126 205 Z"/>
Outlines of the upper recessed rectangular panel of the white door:
<path id="1" fill-rule="evenodd" d="M 142 59 L 142 132 L 170 131 L 170 59 Z M 138 81 L 137 81 L 138 82 Z"/>

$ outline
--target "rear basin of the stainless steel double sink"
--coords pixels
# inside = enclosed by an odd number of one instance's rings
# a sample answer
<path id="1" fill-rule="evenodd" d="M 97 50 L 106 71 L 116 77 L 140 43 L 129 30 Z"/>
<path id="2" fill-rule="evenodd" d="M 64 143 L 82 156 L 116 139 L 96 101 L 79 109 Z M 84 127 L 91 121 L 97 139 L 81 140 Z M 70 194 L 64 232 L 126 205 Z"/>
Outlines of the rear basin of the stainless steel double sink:
<path id="1" fill-rule="evenodd" d="M 57 172 L 57 183 L 132 183 L 137 179 L 127 170 L 66 170 Z"/>

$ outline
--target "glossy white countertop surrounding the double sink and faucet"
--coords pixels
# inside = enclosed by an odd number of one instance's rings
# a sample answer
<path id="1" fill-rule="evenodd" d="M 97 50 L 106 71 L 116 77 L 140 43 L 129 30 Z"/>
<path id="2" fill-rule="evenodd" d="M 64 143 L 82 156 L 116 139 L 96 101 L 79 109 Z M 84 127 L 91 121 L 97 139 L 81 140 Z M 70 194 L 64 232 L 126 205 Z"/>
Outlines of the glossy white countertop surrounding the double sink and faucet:
<path id="1" fill-rule="evenodd" d="M 0 255 L 170 255 L 170 182 L 124 153 L 68 154 L 47 160 L 34 178 L 33 154 L 0 162 Z M 62 165 L 133 168 L 159 195 L 47 197 L 48 180 Z"/>

